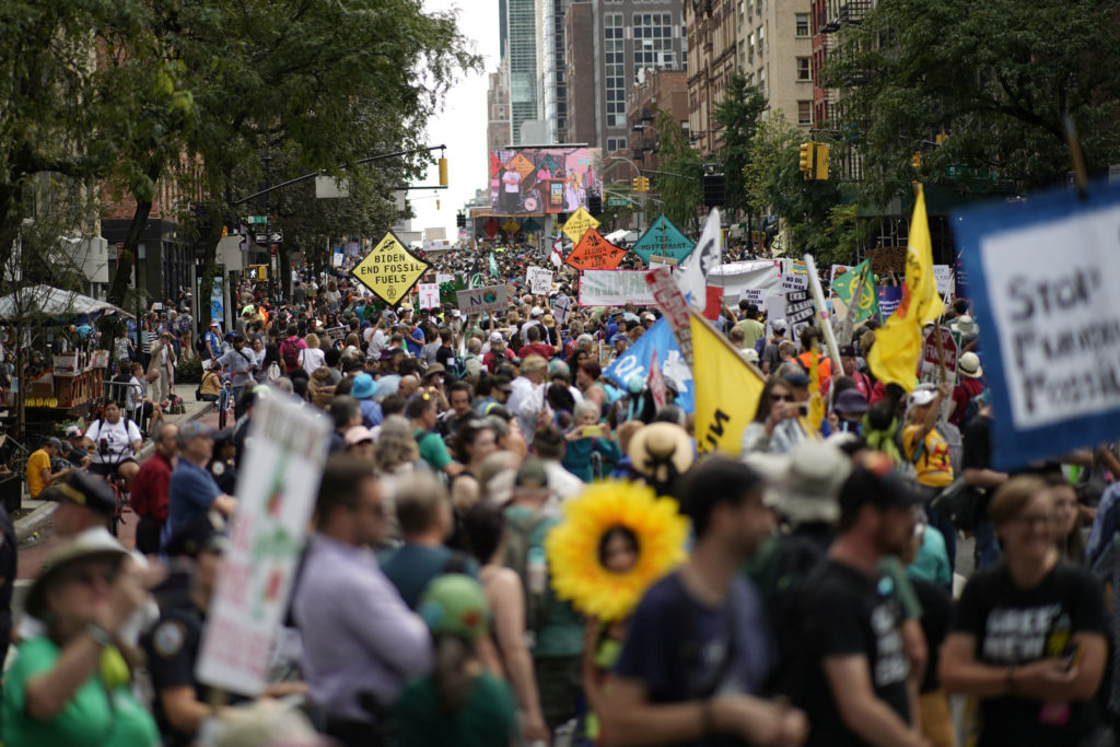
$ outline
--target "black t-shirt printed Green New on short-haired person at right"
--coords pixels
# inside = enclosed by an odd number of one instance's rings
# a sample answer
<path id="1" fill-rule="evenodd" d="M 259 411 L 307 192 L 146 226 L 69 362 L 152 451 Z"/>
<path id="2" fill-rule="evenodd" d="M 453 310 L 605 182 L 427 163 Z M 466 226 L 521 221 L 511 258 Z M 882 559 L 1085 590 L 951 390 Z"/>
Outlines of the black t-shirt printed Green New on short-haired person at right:
<path id="1" fill-rule="evenodd" d="M 956 606 L 953 632 L 976 636 L 977 661 L 1029 664 L 1062 656 L 1076 633 L 1108 635 L 1104 597 L 1088 572 L 1060 562 L 1033 589 L 1020 589 L 1007 566 L 973 576 Z M 1068 707 L 1026 698 L 980 702 L 979 747 L 1075 745 L 1099 723 L 1093 701 Z"/>

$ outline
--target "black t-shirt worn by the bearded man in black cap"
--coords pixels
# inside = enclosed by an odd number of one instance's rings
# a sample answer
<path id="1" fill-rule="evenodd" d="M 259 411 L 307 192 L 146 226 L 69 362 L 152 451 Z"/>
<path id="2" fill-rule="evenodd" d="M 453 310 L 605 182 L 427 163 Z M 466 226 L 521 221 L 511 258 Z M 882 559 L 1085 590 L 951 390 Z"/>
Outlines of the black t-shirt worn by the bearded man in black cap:
<path id="1" fill-rule="evenodd" d="M 805 646 L 811 666 L 797 704 L 809 713 L 808 745 L 847 747 L 867 744 L 852 734 L 837 709 L 824 660 L 864 656 L 876 697 L 909 722 L 903 651 L 903 607 L 888 576 L 827 561 L 806 582 Z"/>

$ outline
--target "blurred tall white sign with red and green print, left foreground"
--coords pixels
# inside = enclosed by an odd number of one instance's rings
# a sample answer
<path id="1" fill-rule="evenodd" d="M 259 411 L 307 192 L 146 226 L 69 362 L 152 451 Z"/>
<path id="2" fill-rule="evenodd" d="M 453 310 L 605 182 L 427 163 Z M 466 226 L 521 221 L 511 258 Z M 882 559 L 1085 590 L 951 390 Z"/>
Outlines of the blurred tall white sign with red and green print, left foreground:
<path id="1" fill-rule="evenodd" d="M 199 681 L 249 697 L 264 688 L 329 431 L 326 419 L 293 401 L 256 400 L 237 480 L 237 512 L 195 667 Z"/>

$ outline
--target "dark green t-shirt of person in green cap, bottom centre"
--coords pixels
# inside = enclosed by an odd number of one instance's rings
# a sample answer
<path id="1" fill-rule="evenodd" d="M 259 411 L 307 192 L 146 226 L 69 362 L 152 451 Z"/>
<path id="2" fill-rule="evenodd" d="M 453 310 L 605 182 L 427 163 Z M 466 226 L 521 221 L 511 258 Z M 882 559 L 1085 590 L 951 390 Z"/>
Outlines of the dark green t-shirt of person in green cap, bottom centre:
<path id="1" fill-rule="evenodd" d="M 401 747 L 492 747 L 516 734 L 510 687 L 489 672 L 475 678 L 459 712 L 444 716 L 432 675 L 411 680 L 396 701 L 396 744 Z"/>

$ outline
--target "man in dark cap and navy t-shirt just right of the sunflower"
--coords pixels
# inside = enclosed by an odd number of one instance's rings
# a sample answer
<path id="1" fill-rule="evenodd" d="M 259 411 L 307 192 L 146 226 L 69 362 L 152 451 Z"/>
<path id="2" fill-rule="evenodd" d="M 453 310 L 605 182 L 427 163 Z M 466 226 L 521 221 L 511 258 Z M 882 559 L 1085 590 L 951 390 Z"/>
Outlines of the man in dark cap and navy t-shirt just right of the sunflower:
<path id="1" fill-rule="evenodd" d="M 713 457 L 681 492 L 692 520 L 684 563 L 651 586 L 598 710 L 604 744 L 800 745 L 805 715 L 763 698 L 774 663 L 765 609 L 738 571 L 774 529 L 763 482 Z"/>

